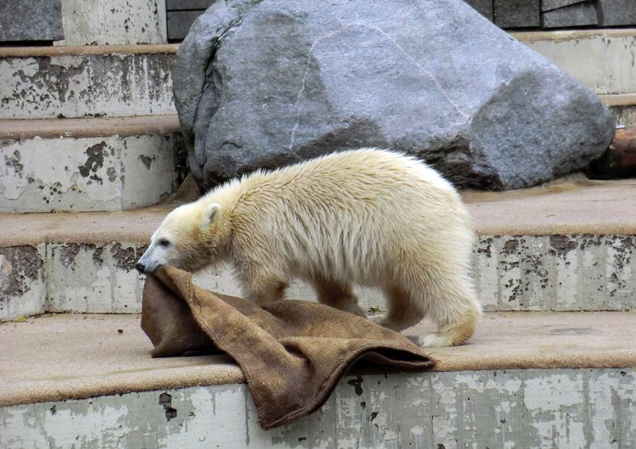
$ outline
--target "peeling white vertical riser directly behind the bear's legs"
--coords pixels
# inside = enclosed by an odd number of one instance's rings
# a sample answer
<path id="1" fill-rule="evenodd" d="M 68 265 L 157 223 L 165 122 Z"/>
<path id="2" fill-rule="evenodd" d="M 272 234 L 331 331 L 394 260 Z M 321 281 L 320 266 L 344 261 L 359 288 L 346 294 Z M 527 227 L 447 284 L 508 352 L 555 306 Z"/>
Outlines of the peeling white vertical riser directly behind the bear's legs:
<path id="1" fill-rule="evenodd" d="M 145 277 L 134 263 L 145 245 L 112 243 L 42 244 L 45 271 L 42 294 L 33 312 L 141 311 Z M 633 311 L 636 236 L 481 237 L 473 256 L 476 289 L 485 311 Z M 4 252 L 0 248 L 0 255 Z M 194 275 L 194 282 L 214 292 L 240 296 L 228 267 Z M 357 289 L 363 309 L 387 310 L 372 289 Z M 289 298 L 314 301 L 313 290 L 293 282 Z M 45 302 L 45 297 L 48 301 Z M 5 304 L 21 303 L 20 293 Z M 30 301 L 30 302 L 29 302 Z M 25 304 L 27 304 L 25 303 Z M 16 318 L 12 305 L 0 309 L 0 321 Z M 24 313 L 23 313 L 24 314 Z M 20 315 L 17 315 L 20 316 Z"/>

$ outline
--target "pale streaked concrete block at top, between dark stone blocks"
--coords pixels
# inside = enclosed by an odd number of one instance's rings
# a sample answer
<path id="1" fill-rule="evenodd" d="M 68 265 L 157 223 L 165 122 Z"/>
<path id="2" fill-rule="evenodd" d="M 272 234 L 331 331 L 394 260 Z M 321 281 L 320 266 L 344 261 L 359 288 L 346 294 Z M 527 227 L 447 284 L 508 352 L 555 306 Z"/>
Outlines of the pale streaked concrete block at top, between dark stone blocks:
<path id="1" fill-rule="evenodd" d="M 165 44 L 163 0 L 61 0 L 60 45 Z"/>

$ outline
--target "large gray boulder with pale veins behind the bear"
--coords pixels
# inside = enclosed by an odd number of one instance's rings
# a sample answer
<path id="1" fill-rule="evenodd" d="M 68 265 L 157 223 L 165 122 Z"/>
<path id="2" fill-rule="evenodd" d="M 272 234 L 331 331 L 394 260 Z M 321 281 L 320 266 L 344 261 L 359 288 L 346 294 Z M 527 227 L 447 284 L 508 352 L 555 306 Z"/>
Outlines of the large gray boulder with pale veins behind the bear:
<path id="1" fill-rule="evenodd" d="M 360 146 L 519 188 L 586 166 L 614 133 L 596 95 L 460 0 L 218 0 L 175 66 L 203 188 Z"/>

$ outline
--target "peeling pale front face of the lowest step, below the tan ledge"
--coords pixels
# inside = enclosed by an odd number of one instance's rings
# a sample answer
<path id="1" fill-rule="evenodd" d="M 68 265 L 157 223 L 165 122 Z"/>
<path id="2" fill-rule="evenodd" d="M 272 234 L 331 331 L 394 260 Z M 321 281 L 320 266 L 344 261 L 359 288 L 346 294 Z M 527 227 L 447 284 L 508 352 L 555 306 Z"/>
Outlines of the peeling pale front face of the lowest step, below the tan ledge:
<path id="1" fill-rule="evenodd" d="M 636 441 L 635 369 L 344 376 L 322 407 L 270 431 L 246 385 L 0 409 L 8 448 L 589 448 Z"/>

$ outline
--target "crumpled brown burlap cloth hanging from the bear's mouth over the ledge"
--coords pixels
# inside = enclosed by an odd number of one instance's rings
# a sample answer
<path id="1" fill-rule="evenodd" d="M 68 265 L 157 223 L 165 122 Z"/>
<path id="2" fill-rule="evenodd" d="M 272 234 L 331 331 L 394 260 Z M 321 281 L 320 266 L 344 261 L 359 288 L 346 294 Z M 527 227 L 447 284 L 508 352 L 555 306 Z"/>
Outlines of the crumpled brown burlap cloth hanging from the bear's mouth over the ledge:
<path id="1" fill-rule="evenodd" d="M 352 313 L 291 300 L 261 308 L 201 289 L 172 267 L 146 279 L 141 328 L 153 357 L 228 353 L 245 373 L 263 429 L 314 412 L 355 361 L 400 369 L 435 364 L 404 335 Z"/>

